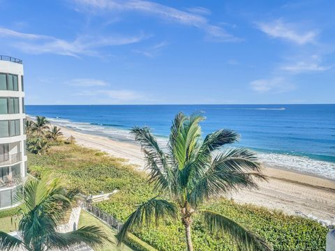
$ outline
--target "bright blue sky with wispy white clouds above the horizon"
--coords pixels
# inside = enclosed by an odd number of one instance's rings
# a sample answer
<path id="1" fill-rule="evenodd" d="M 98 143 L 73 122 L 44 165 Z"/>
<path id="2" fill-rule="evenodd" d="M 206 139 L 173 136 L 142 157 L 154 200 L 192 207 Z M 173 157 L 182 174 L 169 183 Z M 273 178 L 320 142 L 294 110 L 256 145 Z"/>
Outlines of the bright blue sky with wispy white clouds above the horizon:
<path id="1" fill-rule="evenodd" d="M 0 0 L 27 105 L 335 102 L 335 1 Z"/>

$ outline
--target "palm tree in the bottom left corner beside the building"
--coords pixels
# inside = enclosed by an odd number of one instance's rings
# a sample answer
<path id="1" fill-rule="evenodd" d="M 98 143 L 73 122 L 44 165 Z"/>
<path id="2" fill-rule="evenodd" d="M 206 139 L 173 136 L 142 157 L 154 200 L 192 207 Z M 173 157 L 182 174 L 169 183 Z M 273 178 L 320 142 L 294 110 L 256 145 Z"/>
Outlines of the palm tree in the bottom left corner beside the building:
<path id="1" fill-rule="evenodd" d="M 80 243 L 98 246 L 110 241 L 96 226 L 81 227 L 67 233 L 57 231 L 57 226 L 71 210 L 76 198 L 77 192 L 66 190 L 58 179 L 49 181 L 47 176 L 43 176 L 40 180 L 27 181 L 22 193 L 17 193 L 17 199 L 23 202 L 17 212 L 20 239 L 0 231 L 0 250 L 67 250 Z"/>

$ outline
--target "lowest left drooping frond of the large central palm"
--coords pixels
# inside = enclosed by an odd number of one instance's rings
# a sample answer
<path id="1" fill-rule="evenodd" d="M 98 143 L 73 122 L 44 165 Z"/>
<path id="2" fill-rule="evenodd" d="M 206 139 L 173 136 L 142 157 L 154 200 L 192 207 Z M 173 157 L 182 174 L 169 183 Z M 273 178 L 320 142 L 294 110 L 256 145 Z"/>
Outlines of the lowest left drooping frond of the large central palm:
<path id="1" fill-rule="evenodd" d="M 129 215 L 128 220 L 124 223 L 117 236 L 118 245 L 126 239 L 128 231 L 133 227 L 141 227 L 143 225 L 150 225 L 153 218 L 158 224 L 158 221 L 164 216 L 177 218 L 177 208 L 174 204 L 165 199 L 156 199 L 156 197 L 149 199 Z"/>

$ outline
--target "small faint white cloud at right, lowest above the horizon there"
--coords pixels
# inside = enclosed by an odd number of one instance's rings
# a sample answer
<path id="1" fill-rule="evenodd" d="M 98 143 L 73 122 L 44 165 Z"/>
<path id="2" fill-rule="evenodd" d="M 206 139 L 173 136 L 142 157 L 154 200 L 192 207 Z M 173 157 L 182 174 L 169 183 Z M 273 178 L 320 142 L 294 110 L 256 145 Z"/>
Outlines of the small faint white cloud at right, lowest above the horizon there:
<path id="1" fill-rule="evenodd" d="M 269 91 L 282 93 L 294 89 L 294 86 L 283 77 L 274 77 L 271 79 L 257 79 L 250 83 L 253 91 L 258 93 L 267 93 Z"/>

